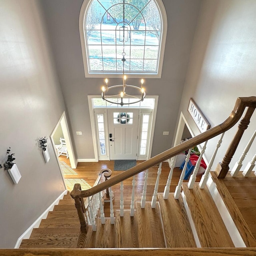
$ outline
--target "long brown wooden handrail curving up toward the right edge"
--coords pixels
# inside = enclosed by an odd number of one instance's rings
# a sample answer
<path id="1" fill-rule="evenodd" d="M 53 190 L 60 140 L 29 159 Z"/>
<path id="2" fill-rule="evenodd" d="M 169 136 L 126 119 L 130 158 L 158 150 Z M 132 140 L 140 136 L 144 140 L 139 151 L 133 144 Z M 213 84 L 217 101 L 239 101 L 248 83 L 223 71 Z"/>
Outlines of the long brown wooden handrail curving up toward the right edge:
<path id="1" fill-rule="evenodd" d="M 189 148 L 192 148 L 193 146 L 196 146 L 198 144 L 201 144 L 202 142 L 205 142 L 206 140 L 209 140 L 223 132 L 226 132 L 230 128 L 232 128 L 238 120 L 241 118 L 244 110 L 246 107 L 249 108 L 256 108 L 256 97 L 239 97 L 236 100 L 236 104 L 234 106 L 234 109 L 232 110 L 230 116 L 222 123 L 219 124 L 210 130 L 207 130 L 206 132 L 203 132 L 202 134 L 199 134 L 195 136 L 194 138 L 191 138 L 177 146 L 174 146 L 173 148 L 170 148 L 169 150 L 166 150 L 157 156 L 154 156 L 145 162 L 142 162 L 141 164 L 138 164 L 125 172 L 122 172 L 113 178 L 106 180 L 105 182 L 102 182 L 101 184 L 98 184 L 97 186 L 94 186 L 88 190 L 76 190 L 75 187 L 70 193 L 72 198 L 80 198 L 80 197 L 88 197 L 92 196 L 106 188 L 109 188 L 115 184 L 120 183 L 123 180 L 126 180 L 127 178 L 130 178 L 152 166 L 155 164 L 158 164 L 160 162 L 163 162 L 169 158 L 172 158 L 173 156 L 176 156 L 177 154 L 184 152 L 188 150 Z"/>

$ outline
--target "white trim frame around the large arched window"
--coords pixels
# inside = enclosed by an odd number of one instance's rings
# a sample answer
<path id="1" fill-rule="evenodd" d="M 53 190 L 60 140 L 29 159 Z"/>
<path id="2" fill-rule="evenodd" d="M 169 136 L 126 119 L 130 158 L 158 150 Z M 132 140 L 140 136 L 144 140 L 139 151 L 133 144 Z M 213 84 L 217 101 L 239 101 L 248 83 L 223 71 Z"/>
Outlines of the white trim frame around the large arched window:
<path id="1" fill-rule="evenodd" d="M 92 78 L 122 78 L 122 74 L 116 74 L 114 72 L 109 72 L 109 73 L 94 73 L 94 72 L 88 72 L 89 70 L 89 58 L 87 58 L 87 45 L 86 45 L 86 38 L 85 38 L 85 28 L 84 28 L 84 18 L 86 17 L 86 14 L 88 12 L 88 7 L 90 6 L 90 2 L 93 0 L 84 0 L 81 10 L 80 10 L 80 15 L 79 15 L 79 33 L 80 33 L 80 40 L 81 40 L 81 47 L 82 47 L 82 57 L 83 57 L 83 62 L 84 62 L 84 74 L 85 77 L 92 77 Z M 167 15 L 166 15 L 166 10 L 164 8 L 164 4 L 162 0 L 154 0 L 156 5 L 159 8 L 160 11 L 160 18 L 162 22 L 162 35 L 161 35 L 161 40 L 160 40 L 160 45 L 159 45 L 159 61 L 158 61 L 158 73 L 150 73 L 150 72 L 141 72 L 141 73 L 132 73 L 129 72 L 129 77 L 131 78 L 141 78 L 143 75 L 143 78 L 161 78 L 162 76 L 162 67 L 163 67 L 163 62 L 164 62 L 164 50 L 165 50 L 165 43 L 166 43 L 166 35 L 167 35 Z"/>

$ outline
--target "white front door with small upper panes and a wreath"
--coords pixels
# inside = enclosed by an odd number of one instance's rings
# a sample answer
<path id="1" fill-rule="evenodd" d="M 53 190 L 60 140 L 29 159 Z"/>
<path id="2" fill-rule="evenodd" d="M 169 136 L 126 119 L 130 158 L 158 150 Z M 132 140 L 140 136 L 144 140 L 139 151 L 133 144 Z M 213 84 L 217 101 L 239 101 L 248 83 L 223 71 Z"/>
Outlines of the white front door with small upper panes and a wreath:
<path id="1" fill-rule="evenodd" d="M 136 160 L 138 109 L 108 109 L 110 160 Z"/>

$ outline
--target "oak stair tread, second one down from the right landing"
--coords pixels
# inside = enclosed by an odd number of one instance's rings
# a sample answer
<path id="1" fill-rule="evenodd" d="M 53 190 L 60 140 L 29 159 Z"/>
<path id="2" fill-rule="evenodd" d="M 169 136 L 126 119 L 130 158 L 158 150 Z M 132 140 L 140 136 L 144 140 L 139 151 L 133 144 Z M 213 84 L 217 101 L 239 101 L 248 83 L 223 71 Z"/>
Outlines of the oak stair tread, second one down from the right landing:
<path id="1" fill-rule="evenodd" d="M 174 193 L 169 193 L 168 199 L 164 199 L 164 194 L 158 193 L 158 199 L 166 246 L 168 248 L 197 247 L 182 197 L 176 200 Z"/>

